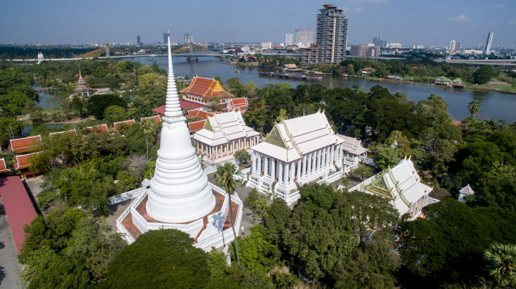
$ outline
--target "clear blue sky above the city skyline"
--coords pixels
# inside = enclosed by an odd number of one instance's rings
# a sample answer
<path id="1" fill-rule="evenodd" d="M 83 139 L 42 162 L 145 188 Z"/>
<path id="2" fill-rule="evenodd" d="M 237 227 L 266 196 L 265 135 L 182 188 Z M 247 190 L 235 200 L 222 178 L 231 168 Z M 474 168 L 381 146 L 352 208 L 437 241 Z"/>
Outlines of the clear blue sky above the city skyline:
<path id="1" fill-rule="evenodd" d="M 348 18 L 348 45 L 373 37 L 403 45 L 493 47 L 516 43 L 514 0 L 120 1 L 3 0 L 0 43 L 158 42 L 170 29 L 195 42 L 284 42 L 296 28 L 315 30 L 317 9 L 333 4 Z M 315 41 L 315 33 L 314 33 Z"/>

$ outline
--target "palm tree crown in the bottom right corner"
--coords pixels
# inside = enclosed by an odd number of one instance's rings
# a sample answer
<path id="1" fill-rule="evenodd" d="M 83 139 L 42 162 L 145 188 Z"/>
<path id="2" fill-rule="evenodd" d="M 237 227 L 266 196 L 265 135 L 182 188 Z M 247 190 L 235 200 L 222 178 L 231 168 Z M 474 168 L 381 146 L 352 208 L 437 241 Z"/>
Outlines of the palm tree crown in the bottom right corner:
<path id="1" fill-rule="evenodd" d="M 500 286 L 516 287 L 516 245 L 491 244 L 484 251 L 484 258 L 491 264 L 489 275 Z"/>

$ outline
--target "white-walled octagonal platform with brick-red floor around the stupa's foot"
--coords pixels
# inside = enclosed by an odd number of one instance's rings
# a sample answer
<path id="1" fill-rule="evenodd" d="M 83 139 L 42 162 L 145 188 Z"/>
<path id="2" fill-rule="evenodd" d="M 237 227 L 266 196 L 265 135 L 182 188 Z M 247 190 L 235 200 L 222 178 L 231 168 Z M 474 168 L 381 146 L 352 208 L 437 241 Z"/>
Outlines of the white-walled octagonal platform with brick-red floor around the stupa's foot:
<path id="1" fill-rule="evenodd" d="M 222 189 L 209 183 L 215 196 L 215 208 L 207 215 L 186 223 L 165 223 L 154 220 L 146 212 L 148 193 L 139 196 L 117 219 L 118 232 L 122 233 L 127 243 L 133 243 L 142 233 L 158 229 L 178 229 L 194 239 L 193 245 L 205 251 L 212 247 L 219 248 L 234 240 L 229 211 L 229 196 Z M 239 230 L 242 219 L 243 203 L 234 194 L 231 196 L 233 223 Z"/>

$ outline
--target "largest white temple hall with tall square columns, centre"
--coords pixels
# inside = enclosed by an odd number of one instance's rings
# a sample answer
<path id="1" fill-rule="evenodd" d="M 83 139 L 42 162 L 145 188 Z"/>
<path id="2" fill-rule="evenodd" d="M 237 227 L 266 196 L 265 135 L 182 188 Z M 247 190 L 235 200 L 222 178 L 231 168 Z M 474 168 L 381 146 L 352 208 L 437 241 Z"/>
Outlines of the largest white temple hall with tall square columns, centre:
<path id="1" fill-rule="evenodd" d="M 247 186 L 276 193 L 292 204 L 303 184 L 341 178 L 343 143 L 324 112 L 282 119 L 261 143 L 251 147 Z"/>

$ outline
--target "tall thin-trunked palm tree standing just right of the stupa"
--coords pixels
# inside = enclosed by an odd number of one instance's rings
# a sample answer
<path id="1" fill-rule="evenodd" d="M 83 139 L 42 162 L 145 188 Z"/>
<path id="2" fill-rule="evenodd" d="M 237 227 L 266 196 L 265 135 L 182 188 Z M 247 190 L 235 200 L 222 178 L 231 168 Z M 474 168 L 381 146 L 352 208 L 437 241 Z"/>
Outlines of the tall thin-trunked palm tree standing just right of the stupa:
<path id="1" fill-rule="evenodd" d="M 231 228 L 233 228 L 233 236 L 235 236 L 236 246 L 236 261 L 238 267 L 240 267 L 240 256 L 238 255 L 238 241 L 236 240 L 235 225 L 233 224 L 233 209 L 231 206 L 231 195 L 235 192 L 236 185 L 242 183 L 241 179 L 235 179 L 233 174 L 240 174 L 237 166 L 233 162 L 226 162 L 223 166 L 217 166 L 217 172 L 215 173 L 215 185 L 224 187 L 224 190 L 229 195 L 229 212 L 231 214 Z"/>

